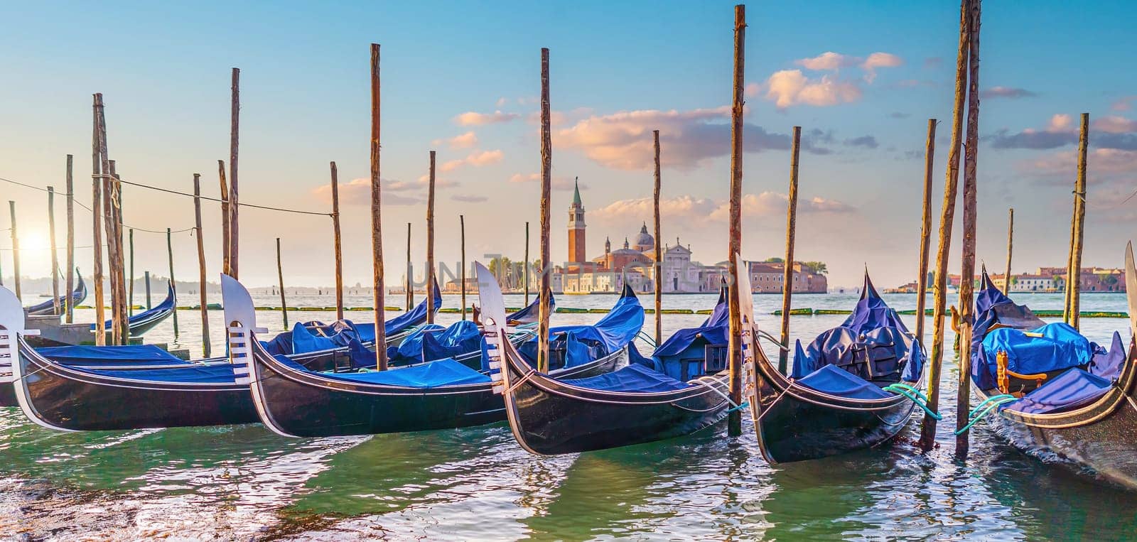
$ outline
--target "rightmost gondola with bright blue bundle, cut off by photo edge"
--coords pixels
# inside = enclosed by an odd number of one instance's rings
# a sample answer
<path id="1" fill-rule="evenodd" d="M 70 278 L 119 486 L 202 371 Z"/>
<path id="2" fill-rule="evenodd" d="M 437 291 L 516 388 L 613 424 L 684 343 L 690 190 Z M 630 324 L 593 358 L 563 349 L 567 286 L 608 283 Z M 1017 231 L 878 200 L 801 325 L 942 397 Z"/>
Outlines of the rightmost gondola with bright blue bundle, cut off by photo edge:
<path id="1" fill-rule="evenodd" d="M 1067 324 L 1044 324 L 995 287 L 986 272 L 976 298 L 972 382 L 995 431 L 1028 453 L 1109 484 L 1137 490 L 1137 270 L 1126 248 L 1129 353 L 1120 333 L 1109 350 Z"/>

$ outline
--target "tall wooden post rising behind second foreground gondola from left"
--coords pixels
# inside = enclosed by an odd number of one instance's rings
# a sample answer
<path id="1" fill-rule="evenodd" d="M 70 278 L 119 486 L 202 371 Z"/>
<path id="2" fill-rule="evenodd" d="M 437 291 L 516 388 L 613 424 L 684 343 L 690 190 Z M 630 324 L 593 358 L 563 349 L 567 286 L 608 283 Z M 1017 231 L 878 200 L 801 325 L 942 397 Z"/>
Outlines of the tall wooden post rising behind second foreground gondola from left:
<path id="1" fill-rule="evenodd" d="M 372 287 L 375 305 L 375 366 L 387 370 L 387 331 L 383 322 L 383 235 L 381 210 L 382 192 L 379 184 L 380 151 L 380 83 L 379 83 L 379 43 L 371 44 L 371 247 L 372 247 Z"/>

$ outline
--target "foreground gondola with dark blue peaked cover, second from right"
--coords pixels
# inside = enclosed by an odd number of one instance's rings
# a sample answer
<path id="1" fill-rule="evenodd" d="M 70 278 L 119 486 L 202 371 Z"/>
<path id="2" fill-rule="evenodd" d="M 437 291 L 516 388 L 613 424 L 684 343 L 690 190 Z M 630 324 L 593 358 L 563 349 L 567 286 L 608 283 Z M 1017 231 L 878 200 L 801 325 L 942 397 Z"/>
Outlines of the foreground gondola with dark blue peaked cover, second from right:
<path id="1" fill-rule="evenodd" d="M 919 389 L 923 349 L 864 276 L 853 314 L 803 350 L 783 375 L 761 349 L 747 395 L 762 455 L 802 461 L 880 445 L 903 428 L 914 403 L 896 384 Z M 889 386 L 893 384 L 893 386 Z"/>

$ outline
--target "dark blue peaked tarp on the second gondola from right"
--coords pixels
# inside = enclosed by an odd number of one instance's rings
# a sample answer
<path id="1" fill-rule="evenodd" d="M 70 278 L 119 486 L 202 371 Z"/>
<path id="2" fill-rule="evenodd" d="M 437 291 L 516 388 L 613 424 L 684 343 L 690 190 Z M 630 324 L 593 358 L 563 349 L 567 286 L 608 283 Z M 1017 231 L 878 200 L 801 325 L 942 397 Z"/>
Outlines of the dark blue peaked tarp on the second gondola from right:
<path id="1" fill-rule="evenodd" d="M 828 330 L 807 347 L 795 344 L 790 377 L 803 380 L 827 366 L 836 366 L 860 380 L 893 375 L 916 382 L 923 370 L 920 343 L 888 303 L 877 293 L 869 275 L 861 299 L 840 326 Z M 902 368 L 903 367 L 903 368 Z"/>

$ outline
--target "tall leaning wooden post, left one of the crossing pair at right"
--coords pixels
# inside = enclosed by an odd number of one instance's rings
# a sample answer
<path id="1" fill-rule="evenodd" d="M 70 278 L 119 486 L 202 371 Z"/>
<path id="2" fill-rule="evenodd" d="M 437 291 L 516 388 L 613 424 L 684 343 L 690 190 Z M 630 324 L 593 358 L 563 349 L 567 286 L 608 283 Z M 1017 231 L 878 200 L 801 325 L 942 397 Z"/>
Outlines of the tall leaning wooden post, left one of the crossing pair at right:
<path id="1" fill-rule="evenodd" d="M 947 151 L 944 207 L 939 217 L 939 244 L 936 251 L 936 281 L 932 285 L 932 340 L 928 362 L 928 408 L 939 412 L 939 381 L 944 365 L 944 332 L 947 312 L 947 265 L 952 249 L 952 223 L 955 220 L 956 190 L 960 180 L 960 143 L 963 140 L 963 102 L 968 82 L 968 0 L 960 2 L 960 47 L 955 60 L 955 105 L 952 112 L 952 145 Z M 924 451 L 936 445 L 936 418 L 924 415 L 920 427 Z"/>

